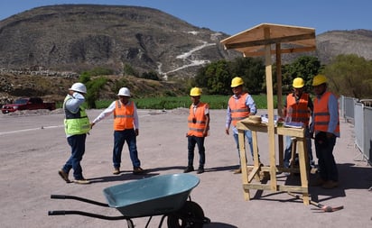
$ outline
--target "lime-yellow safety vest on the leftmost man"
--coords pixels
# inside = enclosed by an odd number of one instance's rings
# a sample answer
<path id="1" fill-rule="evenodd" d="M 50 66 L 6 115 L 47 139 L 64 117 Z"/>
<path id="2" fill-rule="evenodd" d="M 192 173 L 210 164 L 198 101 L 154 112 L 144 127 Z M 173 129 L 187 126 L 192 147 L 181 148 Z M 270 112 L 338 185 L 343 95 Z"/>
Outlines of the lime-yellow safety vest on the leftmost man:
<path id="1" fill-rule="evenodd" d="M 83 134 L 90 130 L 90 124 L 88 115 L 85 112 L 85 108 L 79 106 L 79 112 L 76 114 L 71 113 L 66 108 L 66 102 L 72 99 L 71 96 L 66 96 L 63 102 L 63 110 L 65 111 L 64 126 L 65 132 L 68 135 Z"/>

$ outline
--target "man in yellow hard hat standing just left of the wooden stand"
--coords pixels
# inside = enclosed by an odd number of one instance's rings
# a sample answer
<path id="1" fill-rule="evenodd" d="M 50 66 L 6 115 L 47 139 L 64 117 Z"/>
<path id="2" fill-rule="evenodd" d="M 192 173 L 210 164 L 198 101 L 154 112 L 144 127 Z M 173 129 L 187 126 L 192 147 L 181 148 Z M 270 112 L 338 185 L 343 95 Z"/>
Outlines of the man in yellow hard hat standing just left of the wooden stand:
<path id="1" fill-rule="evenodd" d="M 248 93 L 243 92 L 243 85 L 243 78 L 236 77 L 231 80 L 231 89 L 234 95 L 228 99 L 228 111 L 225 123 L 226 134 L 229 134 L 230 125 L 232 125 L 234 140 L 237 144 L 239 168 L 234 171 L 235 174 L 241 173 L 237 122 L 245 119 L 249 115 L 254 115 L 257 112 L 255 100 Z M 253 158 L 252 132 L 245 131 L 245 135 Z"/>

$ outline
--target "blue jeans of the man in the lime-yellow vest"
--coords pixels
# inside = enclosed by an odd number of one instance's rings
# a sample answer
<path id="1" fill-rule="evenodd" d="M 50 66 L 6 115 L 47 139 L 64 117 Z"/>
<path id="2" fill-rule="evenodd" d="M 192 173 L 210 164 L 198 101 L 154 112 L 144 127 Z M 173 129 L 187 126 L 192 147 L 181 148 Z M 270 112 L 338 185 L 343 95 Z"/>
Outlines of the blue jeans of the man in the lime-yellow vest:
<path id="1" fill-rule="evenodd" d="M 73 176 L 75 179 L 83 179 L 83 170 L 80 166 L 80 161 L 83 159 L 85 152 L 85 140 L 87 134 L 76 134 L 67 138 L 67 142 L 71 148 L 70 159 L 66 161 L 62 170 L 65 173 L 69 173 L 70 169 L 74 169 Z"/>

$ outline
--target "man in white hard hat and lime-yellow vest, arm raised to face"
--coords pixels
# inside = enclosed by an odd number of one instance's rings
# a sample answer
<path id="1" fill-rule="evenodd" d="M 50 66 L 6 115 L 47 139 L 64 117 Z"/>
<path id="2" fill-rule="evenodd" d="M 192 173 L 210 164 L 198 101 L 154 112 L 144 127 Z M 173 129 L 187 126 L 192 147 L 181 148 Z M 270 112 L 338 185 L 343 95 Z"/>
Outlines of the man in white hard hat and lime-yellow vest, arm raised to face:
<path id="1" fill-rule="evenodd" d="M 58 171 L 60 178 L 70 183 L 69 172 L 73 169 L 73 177 L 77 184 L 89 184 L 83 177 L 80 161 L 85 152 L 85 141 L 90 130 L 88 115 L 82 104 L 85 101 L 84 95 L 87 94 L 87 87 L 82 83 L 75 83 L 70 87 L 69 94 L 63 102 L 65 112 L 64 126 L 71 148 L 70 159 Z"/>

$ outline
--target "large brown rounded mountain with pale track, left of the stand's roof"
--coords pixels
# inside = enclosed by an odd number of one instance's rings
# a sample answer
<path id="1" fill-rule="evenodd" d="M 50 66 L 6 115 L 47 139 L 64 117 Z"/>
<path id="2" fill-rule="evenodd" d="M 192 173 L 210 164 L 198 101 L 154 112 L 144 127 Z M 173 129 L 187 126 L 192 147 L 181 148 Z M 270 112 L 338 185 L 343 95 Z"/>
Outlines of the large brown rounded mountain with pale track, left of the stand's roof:
<path id="1" fill-rule="evenodd" d="M 53 5 L 0 22 L 0 68 L 80 71 L 129 64 L 139 73 L 192 77 L 196 68 L 240 56 L 224 50 L 228 37 L 146 7 Z"/>

